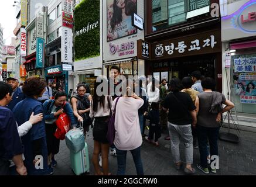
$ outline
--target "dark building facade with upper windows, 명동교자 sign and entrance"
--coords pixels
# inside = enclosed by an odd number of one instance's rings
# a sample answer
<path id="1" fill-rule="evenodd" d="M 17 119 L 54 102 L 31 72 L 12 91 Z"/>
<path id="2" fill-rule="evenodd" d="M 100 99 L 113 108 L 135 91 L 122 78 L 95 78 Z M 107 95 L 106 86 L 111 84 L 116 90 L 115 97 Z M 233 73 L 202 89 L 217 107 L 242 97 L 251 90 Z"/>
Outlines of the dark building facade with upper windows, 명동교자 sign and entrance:
<path id="1" fill-rule="evenodd" d="M 211 4 L 219 1 L 145 1 L 145 41 L 151 44 L 146 75 L 170 81 L 199 70 L 221 92 L 221 22 L 211 16 Z"/>

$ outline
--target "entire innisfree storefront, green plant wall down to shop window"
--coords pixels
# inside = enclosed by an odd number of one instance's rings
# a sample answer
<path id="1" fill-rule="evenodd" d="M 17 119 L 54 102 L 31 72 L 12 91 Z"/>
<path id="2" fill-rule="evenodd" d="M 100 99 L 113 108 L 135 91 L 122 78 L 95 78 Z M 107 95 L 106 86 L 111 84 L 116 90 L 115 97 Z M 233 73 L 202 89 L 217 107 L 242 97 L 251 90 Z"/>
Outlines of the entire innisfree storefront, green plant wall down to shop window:
<path id="1" fill-rule="evenodd" d="M 81 1 L 74 10 L 74 91 L 80 83 L 90 86 L 102 75 L 101 1 Z"/>

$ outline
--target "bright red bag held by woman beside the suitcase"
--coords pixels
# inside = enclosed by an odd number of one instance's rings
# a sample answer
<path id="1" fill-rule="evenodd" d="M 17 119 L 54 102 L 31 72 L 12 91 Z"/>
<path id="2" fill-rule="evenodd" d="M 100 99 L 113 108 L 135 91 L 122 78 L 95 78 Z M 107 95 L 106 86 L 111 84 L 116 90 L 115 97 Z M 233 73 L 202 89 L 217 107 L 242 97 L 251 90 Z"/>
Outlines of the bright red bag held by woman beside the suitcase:
<path id="1" fill-rule="evenodd" d="M 66 105 L 66 102 L 64 103 L 63 107 Z M 57 129 L 54 133 L 54 136 L 57 139 L 64 140 L 66 133 L 70 130 L 70 119 L 69 116 L 67 116 L 67 113 L 62 113 L 59 115 L 58 119 L 56 120 L 56 126 Z"/>

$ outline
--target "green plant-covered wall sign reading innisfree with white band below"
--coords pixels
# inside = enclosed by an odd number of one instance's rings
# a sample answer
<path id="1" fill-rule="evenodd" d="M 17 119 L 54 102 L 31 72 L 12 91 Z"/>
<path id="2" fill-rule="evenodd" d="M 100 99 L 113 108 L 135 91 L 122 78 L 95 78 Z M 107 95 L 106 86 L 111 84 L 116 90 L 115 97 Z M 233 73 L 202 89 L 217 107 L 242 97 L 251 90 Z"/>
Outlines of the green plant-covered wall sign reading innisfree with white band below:
<path id="1" fill-rule="evenodd" d="M 101 67 L 100 0 L 82 0 L 75 7 L 74 27 L 74 71 Z"/>

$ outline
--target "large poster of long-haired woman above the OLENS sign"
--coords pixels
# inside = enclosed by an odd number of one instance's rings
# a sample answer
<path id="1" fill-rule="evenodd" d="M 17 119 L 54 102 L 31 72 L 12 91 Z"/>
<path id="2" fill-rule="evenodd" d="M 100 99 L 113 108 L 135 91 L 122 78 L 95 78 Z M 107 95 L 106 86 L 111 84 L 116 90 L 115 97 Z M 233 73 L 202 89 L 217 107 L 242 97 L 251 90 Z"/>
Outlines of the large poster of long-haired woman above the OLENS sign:
<path id="1" fill-rule="evenodd" d="M 107 41 L 137 33 L 132 26 L 136 7 L 137 0 L 107 0 Z"/>

